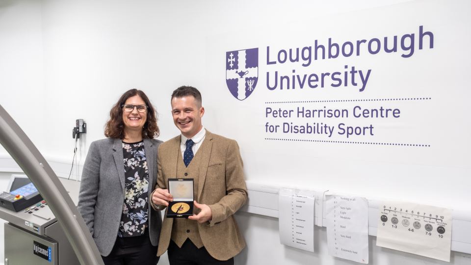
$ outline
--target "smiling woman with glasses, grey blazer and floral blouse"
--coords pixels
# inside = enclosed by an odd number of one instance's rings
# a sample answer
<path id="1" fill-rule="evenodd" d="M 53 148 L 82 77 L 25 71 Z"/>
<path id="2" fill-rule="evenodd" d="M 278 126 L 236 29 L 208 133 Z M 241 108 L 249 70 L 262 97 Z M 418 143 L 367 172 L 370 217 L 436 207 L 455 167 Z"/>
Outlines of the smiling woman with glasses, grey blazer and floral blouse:
<path id="1" fill-rule="evenodd" d="M 156 110 L 144 92 L 131 89 L 111 108 L 107 138 L 88 150 L 78 211 L 105 265 L 155 265 L 161 217 L 148 191 L 157 180 L 161 141 Z"/>

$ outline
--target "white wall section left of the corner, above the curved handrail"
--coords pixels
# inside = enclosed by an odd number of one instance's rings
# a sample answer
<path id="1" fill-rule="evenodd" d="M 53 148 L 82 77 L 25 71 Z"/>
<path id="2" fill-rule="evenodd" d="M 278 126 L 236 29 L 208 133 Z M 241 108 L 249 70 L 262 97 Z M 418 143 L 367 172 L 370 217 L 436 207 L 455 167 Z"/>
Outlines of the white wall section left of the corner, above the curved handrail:
<path id="1" fill-rule="evenodd" d="M 0 105 L 38 148 L 50 120 L 45 120 L 41 2 L 0 2 Z M 0 147 L 0 157 L 4 153 Z"/>

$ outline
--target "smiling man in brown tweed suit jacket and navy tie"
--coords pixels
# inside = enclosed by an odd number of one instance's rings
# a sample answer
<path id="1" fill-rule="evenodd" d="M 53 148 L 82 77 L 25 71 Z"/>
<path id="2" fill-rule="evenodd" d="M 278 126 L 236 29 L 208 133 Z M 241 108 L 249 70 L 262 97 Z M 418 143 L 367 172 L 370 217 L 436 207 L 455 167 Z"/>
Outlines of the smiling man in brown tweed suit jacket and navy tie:
<path id="1" fill-rule="evenodd" d="M 157 256 L 168 249 L 170 265 L 233 265 L 234 256 L 245 247 L 233 214 L 247 200 L 237 142 L 203 127 L 205 109 L 196 88 L 173 91 L 171 105 L 182 134 L 159 147 L 152 205 L 163 210 L 172 201 L 168 179 L 192 178 L 194 213 L 188 219 L 164 218 Z"/>

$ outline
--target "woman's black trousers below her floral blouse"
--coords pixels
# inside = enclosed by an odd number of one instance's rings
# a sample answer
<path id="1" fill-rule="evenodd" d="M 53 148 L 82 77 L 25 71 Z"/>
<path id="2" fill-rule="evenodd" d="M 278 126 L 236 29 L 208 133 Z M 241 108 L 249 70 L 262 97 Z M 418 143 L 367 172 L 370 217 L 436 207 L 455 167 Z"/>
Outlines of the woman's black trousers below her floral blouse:
<path id="1" fill-rule="evenodd" d="M 102 258 L 105 265 L 156 265 L 159 259 L 147 230 L 139 237 L 116 238 L 111 253 Z"/>

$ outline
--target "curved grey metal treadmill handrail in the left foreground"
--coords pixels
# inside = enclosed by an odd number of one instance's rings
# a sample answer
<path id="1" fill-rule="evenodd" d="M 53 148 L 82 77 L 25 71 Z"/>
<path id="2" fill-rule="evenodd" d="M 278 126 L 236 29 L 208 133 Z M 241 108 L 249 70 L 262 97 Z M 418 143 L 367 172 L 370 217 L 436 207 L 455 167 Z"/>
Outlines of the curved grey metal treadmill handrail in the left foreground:
<path id="1" fill-rule="evenodd" d="M 57 175 L 26 133 L 1 105 L 0 144 L 15 159 L 48 202 L 80 264 L 104 265 L 88 227 Z"/>

